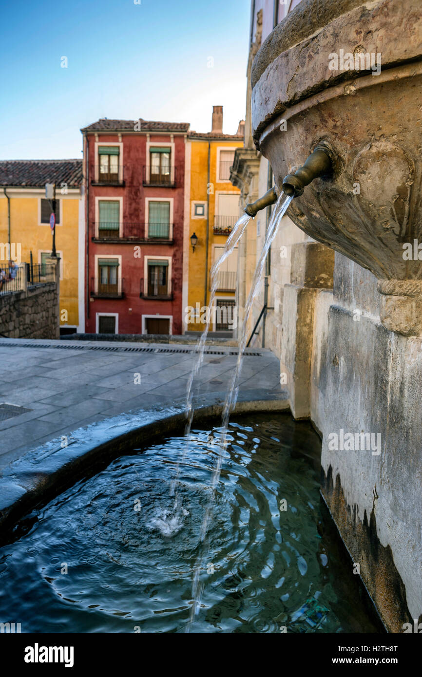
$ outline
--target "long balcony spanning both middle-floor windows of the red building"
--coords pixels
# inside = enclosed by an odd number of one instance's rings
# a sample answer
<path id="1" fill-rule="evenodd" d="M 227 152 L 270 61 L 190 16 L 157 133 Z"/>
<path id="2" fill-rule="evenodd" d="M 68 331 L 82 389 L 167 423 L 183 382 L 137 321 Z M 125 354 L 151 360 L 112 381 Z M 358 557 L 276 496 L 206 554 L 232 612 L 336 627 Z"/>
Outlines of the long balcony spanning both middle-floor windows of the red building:
<path id="1" fill-rule="evenodd" d="M 170 237 L 174 223 L 144 223 L 124 221 L 123 223 L 93 223 L 93 242 L 139 242 L 140 244 L 173 244 Z M 118 227 L 116 227 L 118 226 Z M 146 238 L 148 233 L 148 238 Z"/>

